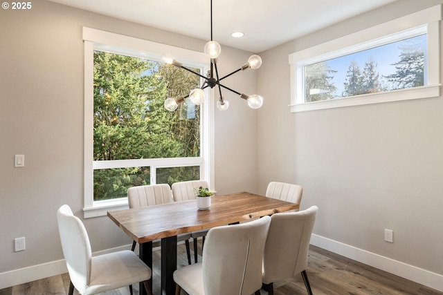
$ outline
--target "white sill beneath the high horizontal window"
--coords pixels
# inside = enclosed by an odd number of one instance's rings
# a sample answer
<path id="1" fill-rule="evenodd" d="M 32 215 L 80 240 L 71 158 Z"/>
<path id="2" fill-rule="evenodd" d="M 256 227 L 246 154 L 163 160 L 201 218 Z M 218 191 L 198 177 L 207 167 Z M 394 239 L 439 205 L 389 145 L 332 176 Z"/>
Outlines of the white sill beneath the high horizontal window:
<path id="1" fill-rule="evenodd" d="M 304 111 L 323 110 L 327 108 L 341 108 L 345 106 L 361 106 L 363 104 L 380 104 L 383 102 L 399 102 L 401 100 L 420 99 L 440 96 L 440 84 L 432 86 L 421 86 L 397 91 L 382 93 L 370 93 L 343 97 L 338 99 L 322 100 L 318 102 L 306 102 L 291 104 L 291 113 Z"/>

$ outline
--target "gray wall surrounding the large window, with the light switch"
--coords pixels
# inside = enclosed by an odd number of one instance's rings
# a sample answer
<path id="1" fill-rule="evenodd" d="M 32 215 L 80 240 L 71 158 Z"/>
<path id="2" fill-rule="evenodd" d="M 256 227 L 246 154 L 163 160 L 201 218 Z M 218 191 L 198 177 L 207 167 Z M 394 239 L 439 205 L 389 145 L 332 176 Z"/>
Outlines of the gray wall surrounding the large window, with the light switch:
<path id="1" fill-rule="evenodd" d="M 83 216 L 82 26 L 200 52 L 206 43 L 48 1 L 33 1 L 28 11 L 0 10 L 0 278 L 63 258 L 60 205 Z M 220 74 L 239 68 L 249 55 L 224 47 Z M 245 71 L 226 85 L 252 94 L 255 80 L 254 71 Z M 244 99 L 224 94 L 230 109 L 215 111 L 215 189 L 256 191 L 257 115 Z M 25 155 L 24 168 L 14 168 L 15 154 Z M 84 223 L 93 251 L 131 243 L 107 217 Z M 14 252 L 13 239 L 21 236 L 26 250 Z"/>

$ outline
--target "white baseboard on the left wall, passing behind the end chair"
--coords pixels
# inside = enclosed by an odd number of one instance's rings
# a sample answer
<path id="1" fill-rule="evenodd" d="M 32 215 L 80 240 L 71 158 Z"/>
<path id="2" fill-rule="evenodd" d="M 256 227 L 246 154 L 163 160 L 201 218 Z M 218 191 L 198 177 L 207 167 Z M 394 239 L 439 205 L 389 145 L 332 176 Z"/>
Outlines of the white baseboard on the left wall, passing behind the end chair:
<path id="1" fill-rule="evenodd" d="M 93 256 L 128 249 L 131 249 L 131 245 L 94 252 Z M 34 280 L 41 280 L 42 278 L 48 278 L 50 276 L 57 276 L 66 272 L 68 272 L 68 269 L 66 268 L 64 259 L 21 269 L 14 269 L 9 272 L 2 272 L 0 273 L 0 289 L 29 283 Z"/>

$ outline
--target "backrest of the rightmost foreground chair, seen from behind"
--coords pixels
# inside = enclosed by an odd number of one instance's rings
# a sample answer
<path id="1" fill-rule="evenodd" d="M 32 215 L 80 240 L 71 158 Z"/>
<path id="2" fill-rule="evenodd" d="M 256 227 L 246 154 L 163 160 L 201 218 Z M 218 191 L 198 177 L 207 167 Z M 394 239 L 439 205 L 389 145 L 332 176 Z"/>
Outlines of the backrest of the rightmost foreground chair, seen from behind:
<path id="1" fill-rule="evenodd" d="M 307 267 L 307 254 L 318 207 L 271 216 L 263 256 L 263 282 L 292 278 Z"/>

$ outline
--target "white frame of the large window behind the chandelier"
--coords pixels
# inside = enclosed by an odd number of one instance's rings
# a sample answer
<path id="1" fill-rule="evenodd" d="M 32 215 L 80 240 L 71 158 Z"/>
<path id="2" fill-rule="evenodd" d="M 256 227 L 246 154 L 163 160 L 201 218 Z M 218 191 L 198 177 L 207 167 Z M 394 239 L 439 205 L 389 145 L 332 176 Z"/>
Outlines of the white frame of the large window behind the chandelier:
<path id="1" fill-rule="evenodd" d="M 155 183 L 156 169 L 177 166 L 200 166 L 202 179 L 208 180 L 211 189 L 214 183 L 214 106 L 213 99 L 206 99 L 201 108 L 200 157 L 162 158 L 141 160 L 93 161 L 93 51 L 109 51 L 121 55 L 157 60 L 162 55 L 174 56 L 177 61 L 194 68 L 209 67 L 204 53 L 187 50 L 144 39 L 118 35 L 93 28 L 83 27 L 84 41 L 84 218 L 105 216 L 107 211 L 127 209 L 127 198 L 114 200 L 93 200 L 93 170 L 150 166 L 151 183 Z M 206 95 L 213 97 L 213 90 L 206 89 Z"/>

